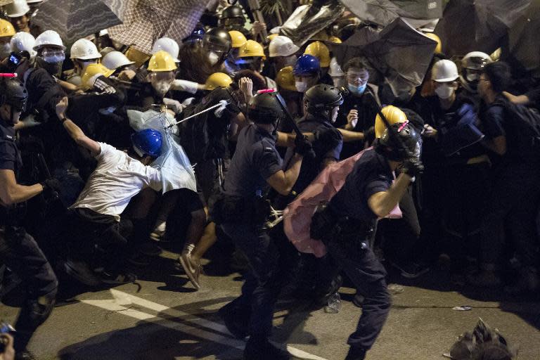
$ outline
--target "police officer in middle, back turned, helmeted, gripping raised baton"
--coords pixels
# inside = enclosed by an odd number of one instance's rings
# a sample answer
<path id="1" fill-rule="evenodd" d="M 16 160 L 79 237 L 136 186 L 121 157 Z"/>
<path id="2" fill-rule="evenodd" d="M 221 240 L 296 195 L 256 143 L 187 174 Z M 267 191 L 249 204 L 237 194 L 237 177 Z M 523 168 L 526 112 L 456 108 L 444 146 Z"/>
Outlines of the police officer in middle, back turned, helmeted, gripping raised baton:
<path id="1" fill-rule="evenodd" d="M 242 295 L 219 312 L 227 328 L 239 338 L 250 335 L 244 359 L 289 359 L 270 344 L 274 303 L 281 290 L 278 245 L 263 229 L 266 203 L 263 194 L 271 186 L 287 195 L 297 181 L 302 158 L 311 153 L 311 143 L 298 137 L 295 155 L 287 170 L 276 150 L 276 130 L 284 116 L 276 93 L 255 95 L 248 117 L 255 122 L 240 131 L 236 152 L 225 178 L 224 191 L 212 207 L 212 217 L 233 239 L 250 262 Z"/>

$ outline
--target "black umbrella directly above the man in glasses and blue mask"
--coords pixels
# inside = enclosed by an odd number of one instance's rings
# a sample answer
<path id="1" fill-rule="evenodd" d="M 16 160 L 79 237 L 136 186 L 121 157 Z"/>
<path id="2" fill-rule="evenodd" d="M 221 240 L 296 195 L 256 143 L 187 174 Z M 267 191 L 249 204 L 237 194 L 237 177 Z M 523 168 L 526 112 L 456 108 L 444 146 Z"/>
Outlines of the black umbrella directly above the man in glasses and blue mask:
<path id="1" fill-rule="evenodd" d="M 368 29 L 356 31 L 343 44 L 330 45 L 338 62 L 344 64 L 350 58 L 364 56 L 396 95 L 422 84 L 437 42 L 414 30 L 402 18 L 383 30 Z M 383 82 L 380 78 L 378 84 Z"/>

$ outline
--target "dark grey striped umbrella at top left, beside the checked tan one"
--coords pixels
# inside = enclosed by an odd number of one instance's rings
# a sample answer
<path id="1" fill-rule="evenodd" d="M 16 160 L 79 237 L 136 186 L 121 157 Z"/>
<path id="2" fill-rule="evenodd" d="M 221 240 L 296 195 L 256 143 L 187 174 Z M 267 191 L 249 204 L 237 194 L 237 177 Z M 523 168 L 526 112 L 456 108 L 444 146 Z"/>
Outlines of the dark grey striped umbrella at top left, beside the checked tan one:
<path id="1" fill-rule="evenodd" d="M 122 23 L 122 0 L 45 0 L 32 17 L 32 25 L 54 30 L 65 45 Z"/>

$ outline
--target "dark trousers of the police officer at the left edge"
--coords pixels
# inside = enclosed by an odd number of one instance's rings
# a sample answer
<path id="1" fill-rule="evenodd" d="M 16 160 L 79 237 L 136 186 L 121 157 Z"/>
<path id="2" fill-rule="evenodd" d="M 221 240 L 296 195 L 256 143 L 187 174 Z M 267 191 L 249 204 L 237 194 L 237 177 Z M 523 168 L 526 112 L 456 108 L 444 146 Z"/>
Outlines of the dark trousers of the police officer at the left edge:
<path id="1" fill-rule="evenodd" d="M 58 280 L 41 249 L 24 228 L 0 227 L 0 264 L 23 281 L 27 297 L 15 322 L 15 351 L 23 351 L 35 330 L 49 318 Z"/>

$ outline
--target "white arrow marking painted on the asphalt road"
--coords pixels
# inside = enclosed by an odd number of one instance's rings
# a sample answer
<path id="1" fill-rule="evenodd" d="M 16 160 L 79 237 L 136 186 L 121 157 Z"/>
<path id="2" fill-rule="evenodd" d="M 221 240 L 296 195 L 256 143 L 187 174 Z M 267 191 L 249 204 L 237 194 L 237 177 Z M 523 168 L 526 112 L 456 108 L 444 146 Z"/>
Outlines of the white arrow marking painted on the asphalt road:
<path id="1" fill-rule="evenodd" d="M 200 319 L 184 311 L 180 311 L 178 309 L 172 309 L 170 307 L 166 307 L 165 305 L 158 304 L 157 302 L 151 302 L 149 300 L 142 299 L 141 297 L 137 297 L 135 295 L 123 293 L 122 291 L 119 291 L 119 290 L 110 289 L 110 293 L 114 297 L 114 299 L 112 300 L 81 300 L 81 302 L 84 302 L 84 304 L 92 305 L 94 307 L 100 307 L 101 309 L 105 309 L 109 311 L 117 311 L 117 314 L 130 316 L 134 319 L 138 319 L 141 321 L 148 321 L 150 323 L 156 323 L 156 325 L 165 326 L 166 328 L 170 328 L 173 330 L 180 330 L 184 333 L 194 335 L 198 338 L 203 338 L 206 340 L 210 340 L 212 342 L 218 342 L 219 344 L 223 344 L 228 347 L 234 347 L 240 350 L 244 349 L 245 342 L 218 334 L 218 333 L 221 333 L 221 334 L 229 335 L 229 331 L 226 329 L 224 325 L 221 325 L 220 323 L 214 323 L 214 321 Z M 132 304 L 136 304 L 141 307 L 145 307 L 146 309 L 151 309 L 153 311 L 167 313 L 168 315 L 174 316 L 174 317 L 181 318 L 185 316 L 190 316 L 190 319 L 183 319 L 183 321 L 186 321 L 188 323 L 193 323 L 195 325 L 207 328 L 209 330 L 213 330 L 214 332 L 206 331 L 200 328 L 195 328 L 193 326 L 186 325 L 185 323 L 178 323 L 176 321 L 165 319 L 162 316 L 147 314 L 146 312 L 143 312 L 143 311 L 130 309 L 129 306 Z M 279 344 L 276 344 L 276 345 L 279 345 Z M 309 354 L 309 352 L 304 352 L 300 349 L 296 349 L 295 347 L 291 347 L 289 345 L 287 346 L 287 350 L 288 352 L 290 352 L 290 354 L 292 354 L 293 356 L 299 359 L 326 360 L 320 356 Z"/>

